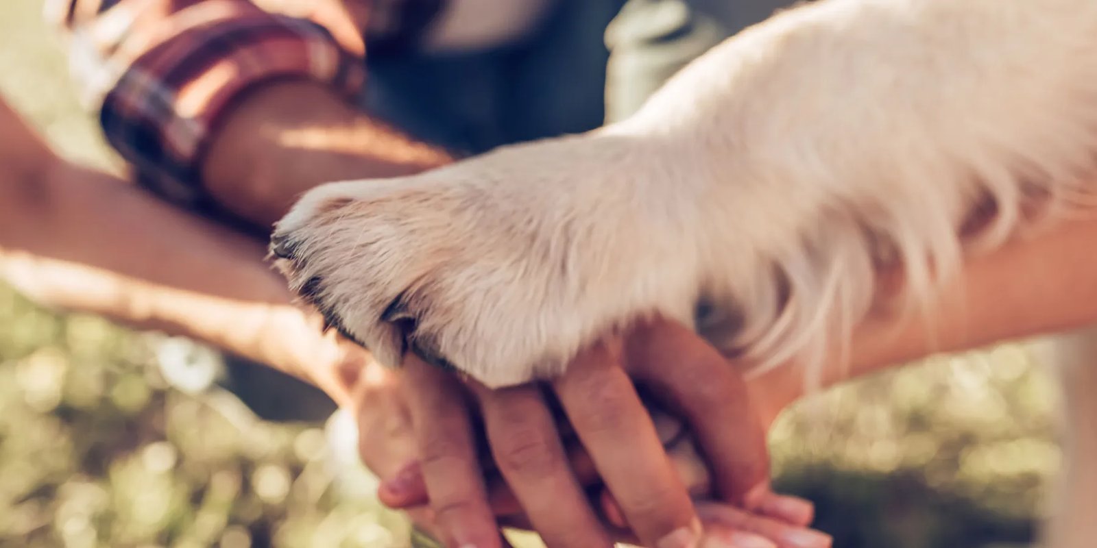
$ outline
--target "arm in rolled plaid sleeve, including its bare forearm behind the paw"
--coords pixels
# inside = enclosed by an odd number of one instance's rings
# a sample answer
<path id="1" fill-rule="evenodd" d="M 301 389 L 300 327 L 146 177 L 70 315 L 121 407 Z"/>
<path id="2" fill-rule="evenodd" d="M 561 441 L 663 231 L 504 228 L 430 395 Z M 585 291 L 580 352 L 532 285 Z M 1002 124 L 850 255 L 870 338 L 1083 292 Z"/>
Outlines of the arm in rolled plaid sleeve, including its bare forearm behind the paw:
<path id="1" fill-rule="evenodd" d="M 309 185 L 445 159 L 348 103 L 365 78 L 361 30 L 382 24 L 367 2 L 49 5 L 108 140 L 140 183 L 177 204 L 269 229 Z"/>

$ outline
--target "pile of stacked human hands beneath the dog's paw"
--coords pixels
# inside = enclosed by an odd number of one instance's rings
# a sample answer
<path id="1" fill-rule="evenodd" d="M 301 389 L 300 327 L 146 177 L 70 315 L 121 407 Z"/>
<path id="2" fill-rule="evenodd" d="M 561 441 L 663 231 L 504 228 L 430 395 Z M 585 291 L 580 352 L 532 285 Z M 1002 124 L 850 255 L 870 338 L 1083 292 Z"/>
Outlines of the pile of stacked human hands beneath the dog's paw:
<path id="1" fill-rule="evenodd" d="M 452 546 L 498 546 L 497 523 L 520 523 L 522 516 L 507 513 L 521 509 L 550 546 L 631 539 L 692 546 L 701 532 L 690 495 L 734 502 L 756 513 L 699 504 L 697 514 L 706 522 L 710 541 L 829 546 L 828 537 L 805 528 L 810 503 L 769 490 L 758 413 L 734 370 L 692 332 L 655 322 L 580 359 L 587 363 L 546 389 L 491 391 L 470 383 L 480 410 L 476 419 L 483 420 L 497 467 L 485 481 L 477 459 L 477 420 L 466 412 L 470 398 L 444 372 L 408 358 L 407 380 L 414 387 L 407 393 L 409 415 L 421 458 L 388 477 L 382 500 L 409 507 L 429 499 L 442 538 Z M 656 366 L 665 361 L 682 364 L 675 376 L 657 373 L 670 370 Z M 659 413 L 663 427 L 656 429 L 630 375 L 651 399 L 687 418 L 704 458 L 669 415 Z M 555 400 L 569 420 L 562 429 L 565 435 L 556 433 Z M 583 447 L 568 443 L 568 429 Z"/>

